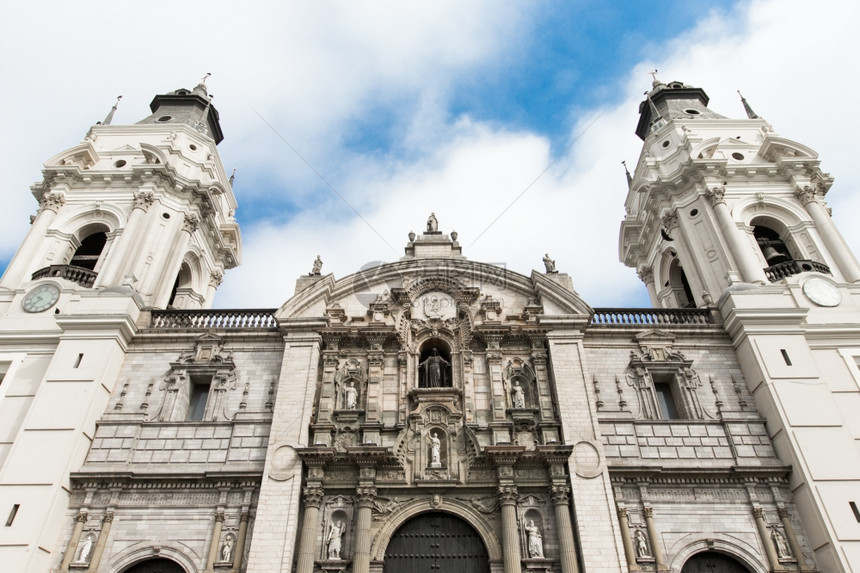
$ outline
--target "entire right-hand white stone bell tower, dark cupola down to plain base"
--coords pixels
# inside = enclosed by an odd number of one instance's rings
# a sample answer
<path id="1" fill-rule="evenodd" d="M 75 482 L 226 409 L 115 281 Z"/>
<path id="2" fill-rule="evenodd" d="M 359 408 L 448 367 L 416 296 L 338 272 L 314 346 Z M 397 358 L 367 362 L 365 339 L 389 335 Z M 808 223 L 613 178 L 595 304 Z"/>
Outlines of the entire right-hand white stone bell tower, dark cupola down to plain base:
<path id="1" fill-rule="evenodd" d="M 824 571 L 860 562 L 860 265 L 818 154 L 655 80 L 629 177 L 621 260 L 661 308 L 719 309 Z M 805 570 L 805 569 L 804 569 Z"/>

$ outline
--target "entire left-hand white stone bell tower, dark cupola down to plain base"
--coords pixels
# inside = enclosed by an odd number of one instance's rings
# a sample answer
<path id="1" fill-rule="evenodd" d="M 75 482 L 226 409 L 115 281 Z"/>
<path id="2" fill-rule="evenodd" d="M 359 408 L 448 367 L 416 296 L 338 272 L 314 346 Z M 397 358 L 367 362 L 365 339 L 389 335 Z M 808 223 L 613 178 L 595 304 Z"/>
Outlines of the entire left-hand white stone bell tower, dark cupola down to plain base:
<path id="1" fill-rule="evenodd" d="M 58 561 L 69 474 L 141 313 L 210 307 L 224 270 L 239 263 L 236 201 L 206 86 L 156 96 L 151 109 L 137 124 L 111 125 L 114 106 L 45 163 L 32 186 L 38 214 L 0 279 L 0 555 L 9 571 Z M 105 514 L 103 529 L 109 523 Z"/>

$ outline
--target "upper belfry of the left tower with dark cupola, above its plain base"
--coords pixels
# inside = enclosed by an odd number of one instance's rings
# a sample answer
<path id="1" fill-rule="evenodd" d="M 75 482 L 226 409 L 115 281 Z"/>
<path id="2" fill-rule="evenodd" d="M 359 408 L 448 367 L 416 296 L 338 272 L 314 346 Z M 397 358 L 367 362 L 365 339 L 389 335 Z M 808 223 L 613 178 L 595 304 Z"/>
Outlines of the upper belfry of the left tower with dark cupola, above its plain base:
<path id="1" fill-rule="evenodd" d="M 146 307 L 211 307 L 241 252 L 218 112 L 202 82 L 150 108 L 134 125 L 110 125 L 111 110 L 45 163 L 32 187 L 39 213 L 0 287 L 53 277 L 67 289 L 128 288 Z"/>

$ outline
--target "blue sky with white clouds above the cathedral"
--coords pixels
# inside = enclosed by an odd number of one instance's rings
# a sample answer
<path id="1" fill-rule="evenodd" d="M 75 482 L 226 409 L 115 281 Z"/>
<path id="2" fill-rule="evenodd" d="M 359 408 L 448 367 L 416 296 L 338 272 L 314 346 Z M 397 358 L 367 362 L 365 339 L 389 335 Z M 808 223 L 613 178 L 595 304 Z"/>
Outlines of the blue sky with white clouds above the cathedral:
<path id="1" fill-rule="evenodd" d="M 638 157 L 637 104 L 655 67 L 703 87 L 727 116 L 742 117 L 741 89 L 778 132 L 818 150 L 837 177 L 837 224 L 844 213 L 860 244 L 850 224 L 860 120 L 839 101 L 857 93 L 843 55 L 860 47 L 858 9 L 845 2 L 87 8 L 19 3 L 0 23 L 2 266 L 35 211 L 28 188 L 43 161 L 76 145 L 117 94 L 114 123 L 133 123 L 154 94 L 206 72 L 244 238 L 216 306 L 279 306 L 317 254 L 336 277 L 396 260 L 430 211 L 469 258 L 528 274 L 548 251 L 593 306 L 647 306 L 617 236 L 620 162 Z M 822 109 L 824 90 L 838 119 L 805 111 Z"/>

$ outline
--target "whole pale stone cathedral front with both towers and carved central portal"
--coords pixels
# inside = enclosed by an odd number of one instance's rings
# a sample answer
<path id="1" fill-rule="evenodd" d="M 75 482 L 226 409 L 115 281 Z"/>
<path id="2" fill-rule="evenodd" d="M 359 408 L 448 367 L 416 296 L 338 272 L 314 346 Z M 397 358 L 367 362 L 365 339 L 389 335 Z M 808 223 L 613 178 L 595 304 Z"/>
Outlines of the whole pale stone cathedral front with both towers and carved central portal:
<path id="1" fill-rule="evenodd" d="M 640 108 L 650 309 L 431 214 L 397 262 L 210 310 L 241 234 L 205 86 L 94 126 L 0 280 L 5 568 L 854 570 L 860 265 L 817 155 L 707 104 Z"/>

